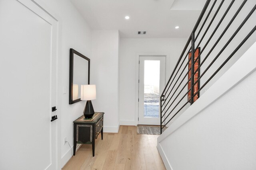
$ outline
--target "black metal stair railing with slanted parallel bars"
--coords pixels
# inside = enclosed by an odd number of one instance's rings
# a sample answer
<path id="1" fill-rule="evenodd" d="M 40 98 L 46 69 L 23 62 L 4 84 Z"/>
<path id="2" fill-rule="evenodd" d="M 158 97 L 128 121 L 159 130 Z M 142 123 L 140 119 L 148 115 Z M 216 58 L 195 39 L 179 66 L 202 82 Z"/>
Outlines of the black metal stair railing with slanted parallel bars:
<path id="1" fill-rule="evenodd" d="M 237 1 L 237 3 L 240 4 L 236 9 L 236 7 L 234 7 L 235 0 L 206 1 L 196 25 L 194 26 L 194 29 L 192 30 L 192 33 L 188 38 L 188 41 L 160 97 L 161 134 L 162 129 L 166 127 L 166 125 L 172 121 L 177 114 L 188 108 L 199 98 L 200 91 L 202 91 L 202 89 L 216 76 L 216 74 L 218 74 L 218 72 L 226 65 L 226 63 L 228 63 L 228 61 L 256 30 L 256 20 L 253 18 L 250 23 L 253 22 L 252 24 L 254 26 L 246 32 L 244 38 L 238 42 L 238 45 L 234 45 L 234 43 L 230 45 L 242 27 L 250 19 L 252 14 L 254 14 L 256 10 L 255 3 L 254 6 L 251 6 L 252 8 L 250 11 L 246 11 L 246 14 L 244 14 L 245 11 L 242 12 L 242 14 L 246 16 L 242 18 L 243 20 L 240 20 L 240 16 L 238 27 L 236 27 L 234 33 L 230 37 L 224 38 L 227 32 L 232 31 L 232 29 L 229 31 L 232 23 L 234 24 L 235 21 L 237 24 L 238 21 L 236 18 L 239 16 L 246 2 L 247 0 Z M 234 11 L 234 14 L 230 14 L 230 11 Z M 232 16 L 228 21 L 226 21 L 227 14 L 228 16 Z M 221 29 L 221 27 L 223 29 Z M 234 25 L 232 28 L 234 28 Z M 202 33 L 202 31 L 204 32 Z M 218 34 L 216 32 L 218 32 Z M 208 37 L 206 37 L 206 35 L 208 35 Z M 213 37 L 215 37 L 216 41 L 213 40 Z M 228 40 L 217 48 L 220 41 L 223 39 Z M 202 48 L 200 48 L 200 45 L 202 45 L 203 42 L 205 43 Z M 227 47 L 229 47 L 229 49 L 226 50 L 227 52 L 225 55 L 222 55 Z M 232 48 L 232 50 L 230 50 L 230 48 Z M 214 50 L 215 53 L 213 52 Z M 212 60 L 210 61 L 209 58 Z M 220 60 L 221 62 L 216 62 L 219 58 L 223 61 Z M 200 59 L 203 60 L 200 62 Z M 212 65 L 216 63 L 217 65 L 212 67 Z M 187 71 L 185 71 L 186 68 Z M 205 76 L 206 74 L 208 77 Z M 202 80 L 203 76 L 204 82 L 202 83 L 200 80 Z M 187 98 L 185 98 L 186 96 Z"/>

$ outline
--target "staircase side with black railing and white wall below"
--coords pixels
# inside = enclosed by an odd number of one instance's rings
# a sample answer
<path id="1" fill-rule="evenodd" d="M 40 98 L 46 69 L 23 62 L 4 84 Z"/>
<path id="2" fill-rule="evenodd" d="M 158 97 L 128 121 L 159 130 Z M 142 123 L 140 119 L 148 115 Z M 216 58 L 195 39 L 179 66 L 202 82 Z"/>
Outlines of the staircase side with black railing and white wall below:
<path id="1" fill-rule="evenodd" d="M 255 9 L 206 1 L 161 96 L 166 169 L 256 169 Z"/>

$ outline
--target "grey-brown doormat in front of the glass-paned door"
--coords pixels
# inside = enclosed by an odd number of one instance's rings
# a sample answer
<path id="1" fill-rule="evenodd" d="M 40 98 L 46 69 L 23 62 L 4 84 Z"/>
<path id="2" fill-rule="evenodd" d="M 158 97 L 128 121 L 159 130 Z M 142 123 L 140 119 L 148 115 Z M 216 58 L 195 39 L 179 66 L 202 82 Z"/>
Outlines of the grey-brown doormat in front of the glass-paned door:
<path id="1" fill-rule="evenodd" d="M 162 129 L 163 131 L 166 129 Z M 137 125 L 137 134 L 160 135 L 160 126 L 156 125 Z"/>

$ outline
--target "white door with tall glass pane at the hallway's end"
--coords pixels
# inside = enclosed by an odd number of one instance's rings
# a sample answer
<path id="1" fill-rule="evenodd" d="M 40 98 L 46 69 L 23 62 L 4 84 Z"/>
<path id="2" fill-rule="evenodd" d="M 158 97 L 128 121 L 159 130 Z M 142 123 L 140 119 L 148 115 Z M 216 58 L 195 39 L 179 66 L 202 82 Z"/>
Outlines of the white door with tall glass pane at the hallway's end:
<path id="1" fill-rule="evenodd" d="M 139 125 L 160 125 L 160 95 L 165 84 L 165 57 L 140 56 Z"/>

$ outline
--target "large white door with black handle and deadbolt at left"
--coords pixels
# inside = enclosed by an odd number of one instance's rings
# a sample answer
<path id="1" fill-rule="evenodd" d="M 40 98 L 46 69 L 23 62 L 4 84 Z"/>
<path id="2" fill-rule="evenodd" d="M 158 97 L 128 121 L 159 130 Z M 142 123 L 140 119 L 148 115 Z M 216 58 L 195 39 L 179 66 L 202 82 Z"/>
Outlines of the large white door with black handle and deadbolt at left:
<path id="1" fill-rule="evenodd" d="M 58 21 L 31 0 L 0 0 L 0 169 L 57 169 Z"/>

